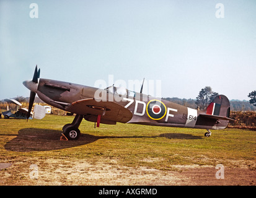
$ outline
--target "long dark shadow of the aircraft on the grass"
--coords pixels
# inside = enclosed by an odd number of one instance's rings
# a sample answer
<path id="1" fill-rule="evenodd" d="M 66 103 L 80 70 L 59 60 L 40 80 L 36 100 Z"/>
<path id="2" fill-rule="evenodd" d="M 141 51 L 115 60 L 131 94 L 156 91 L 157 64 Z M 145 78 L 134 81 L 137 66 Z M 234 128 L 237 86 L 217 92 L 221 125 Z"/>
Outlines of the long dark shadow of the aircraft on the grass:
<path id="1" fill-rule="evenodd" d="M 13 152 L 33 152 L 66 149 L 86 145 L 99 139 L 118 139 L 118 138 L 156 138 L 166 137 L 168 139 L 201 139 L 200 136 L 192 136 L 190 134 L 166 133 L 159 136 L 93 136 L 90 134 L 81 134 L 77 141 L 61 141 L 62 131 L 52 129 L 21 129 L 17 137 L 7 142 L 4 148 Z M 4 135 L 5 136 L 5 135 Z"/>

